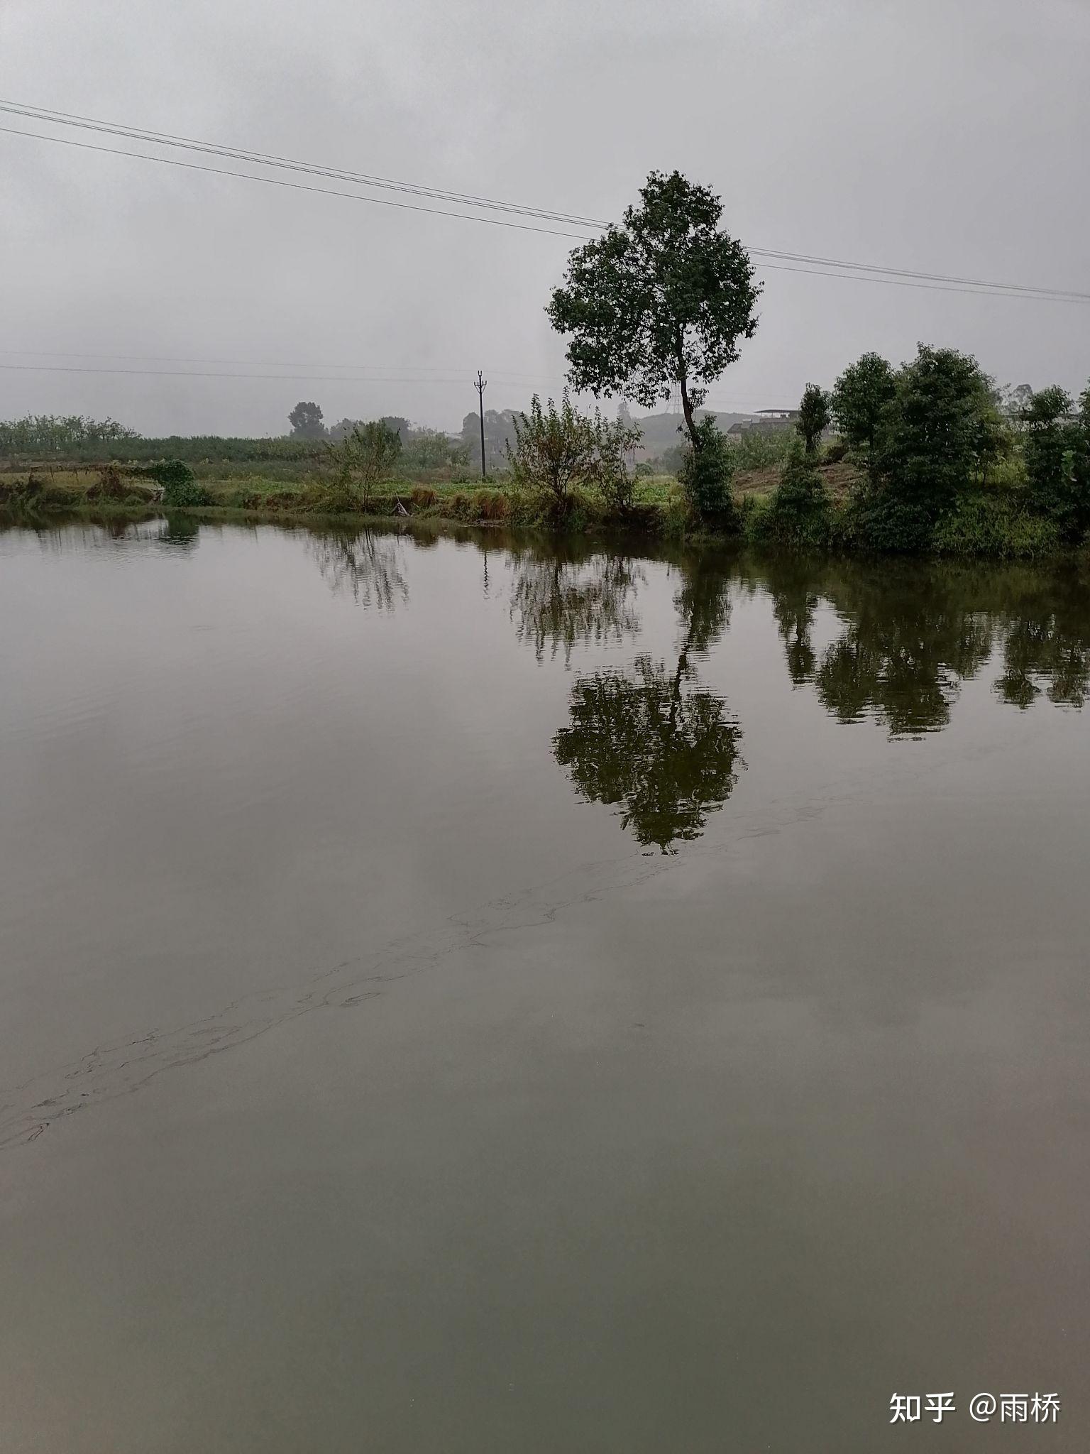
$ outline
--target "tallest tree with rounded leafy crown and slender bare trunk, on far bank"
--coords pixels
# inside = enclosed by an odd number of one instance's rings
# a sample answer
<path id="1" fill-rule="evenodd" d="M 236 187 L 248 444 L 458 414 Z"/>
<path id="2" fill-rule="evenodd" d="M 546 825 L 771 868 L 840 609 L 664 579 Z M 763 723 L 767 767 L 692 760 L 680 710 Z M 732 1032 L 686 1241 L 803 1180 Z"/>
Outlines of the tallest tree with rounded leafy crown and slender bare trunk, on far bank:
<path id="1" fill-rule="evenodd" d="M 741 339 L 757 329 L 760 285 L 748 253 L 719 231 L 722 202 L 680 172 L 653 172 L 621 227 L 576 249 L 546 307 L 570 334 L 568 381 L 647 409 L 680 394 L 689 442 L 695 410 Z"/>

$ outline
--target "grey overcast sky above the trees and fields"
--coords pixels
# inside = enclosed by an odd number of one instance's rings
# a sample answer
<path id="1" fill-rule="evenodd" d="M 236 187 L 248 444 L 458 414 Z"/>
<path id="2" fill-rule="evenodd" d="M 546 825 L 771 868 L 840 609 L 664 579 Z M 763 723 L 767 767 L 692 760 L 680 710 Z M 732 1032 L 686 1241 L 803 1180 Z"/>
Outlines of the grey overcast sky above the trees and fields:
<path id="1" fill-rule="evenodd" d="M 1087 77 L 1090 0 L 0 0 L 7 100 L 605 218 L 679 167 L 748 246 L 1081 291 Z M 456 429 L 478 366 L 496 409 L 562 387 L 561 237 L 7 134 L 0 164 L 0 417 L 282 433 L 315 398 Z M 917 340 L 1090 374 L 1086 304 L 759 275 L 724 409 Z"/>

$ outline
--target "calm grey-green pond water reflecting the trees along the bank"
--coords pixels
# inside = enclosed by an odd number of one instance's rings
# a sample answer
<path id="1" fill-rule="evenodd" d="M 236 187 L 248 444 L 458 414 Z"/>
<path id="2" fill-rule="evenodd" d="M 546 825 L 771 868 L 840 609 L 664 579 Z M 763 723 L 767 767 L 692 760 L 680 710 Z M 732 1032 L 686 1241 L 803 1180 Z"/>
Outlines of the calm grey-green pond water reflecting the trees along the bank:
<path id="1" fill-rule="evenodd" d="M 6 1454 L 1086 1448 L 1086 579 L 9 529 L 0 683 Z"/>

